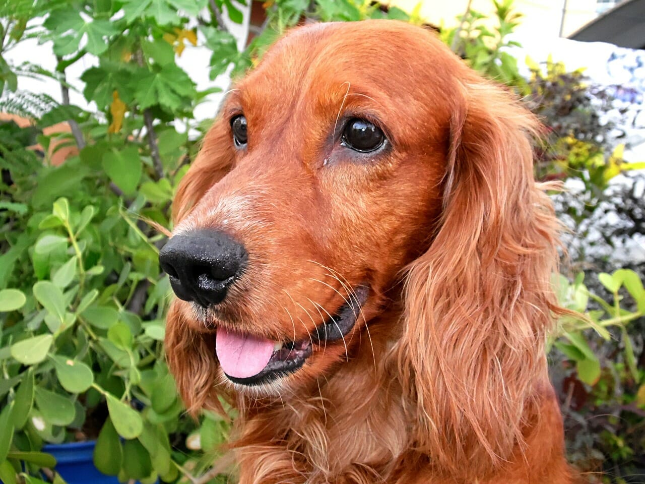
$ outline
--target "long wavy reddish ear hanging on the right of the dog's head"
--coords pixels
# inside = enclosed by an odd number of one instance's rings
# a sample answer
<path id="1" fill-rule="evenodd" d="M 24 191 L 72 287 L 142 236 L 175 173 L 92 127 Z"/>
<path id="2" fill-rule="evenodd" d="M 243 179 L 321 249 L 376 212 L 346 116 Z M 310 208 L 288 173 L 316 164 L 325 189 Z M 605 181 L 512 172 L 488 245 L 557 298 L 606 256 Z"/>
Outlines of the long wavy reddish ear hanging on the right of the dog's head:
<path id="1" fill-rule="evenodd" d="M 409 267 L 396 354 L 417 449 L 476 482 L 521 448 L 546 378 L 558 223 L 533 179 L 535 117 L 482 80 L 462 96 L 441 223 Z"/>

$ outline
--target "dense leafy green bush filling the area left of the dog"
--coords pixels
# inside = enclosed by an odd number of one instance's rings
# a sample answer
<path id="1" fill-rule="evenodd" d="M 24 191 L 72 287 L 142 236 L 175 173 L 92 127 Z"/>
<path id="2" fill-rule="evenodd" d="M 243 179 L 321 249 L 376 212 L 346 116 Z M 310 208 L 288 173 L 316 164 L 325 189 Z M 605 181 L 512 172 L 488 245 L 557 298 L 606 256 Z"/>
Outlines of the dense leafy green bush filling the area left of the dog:
<path id="1" fill-rule="evenodd" d="M 209 467 L 228 424 L 210 412 L 197 421 L 183 414 L 161 345 L 170 297 L 158 264 L 163 227 L 197 149 L 186 132 L 205 129 L 195 106 L 216 91 L 199 92 L 177 57 L 192 45 L 207 46 L 212 57 L 204 68 L 215 79 L 230 66 L 250 66 L 279 31 L 305 16 L 386 14 L 367 1 L 277 1 L 268 5 L 266 28 L 239 52 L 223 7 L 241 22 L 228 0 L 0 6 L 8 33 L 0 59 L 32 37 L 52 41 L 57 56 L 54 72 L 0 60 L 0 107 L 34 120 L 26 129 L 0 125 L 0 479 L 6 483 L 39 482 L 41 470 L 53 477 L 54 460 L 41 452 L 43 444 L 84 439 L 97 439 L 96 467 L 122 481 L 226 479 Z M 405 17 L 396 9 L 390 16 Z M 83 94 L 97 112 L 69 103 L 66 69 L 88 54 L 97 65 L 81 76 Z M 53 79 L 63 103 L 19 91 L 17 74 Z M 61 121 L 70 134 L 43 134 Z M 36 142 L 44 159 L 27 148 Z M 75 145 L 78 154 L 51 166 L 52 143 Z"/>

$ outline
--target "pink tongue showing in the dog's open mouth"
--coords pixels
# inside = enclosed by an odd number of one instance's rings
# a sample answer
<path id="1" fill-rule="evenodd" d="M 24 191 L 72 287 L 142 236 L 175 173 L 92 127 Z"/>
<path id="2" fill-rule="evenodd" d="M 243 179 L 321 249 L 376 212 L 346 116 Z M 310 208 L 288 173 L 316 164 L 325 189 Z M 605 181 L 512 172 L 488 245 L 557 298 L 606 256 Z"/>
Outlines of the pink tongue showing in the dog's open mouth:
<path id="1" fill-rule="evenodd" d="M 246 334 L 217 330 L 215 351 L 224 373 L 233 378 L 249 378 L 261 372 L 271 359 L 274 342 Z"/>

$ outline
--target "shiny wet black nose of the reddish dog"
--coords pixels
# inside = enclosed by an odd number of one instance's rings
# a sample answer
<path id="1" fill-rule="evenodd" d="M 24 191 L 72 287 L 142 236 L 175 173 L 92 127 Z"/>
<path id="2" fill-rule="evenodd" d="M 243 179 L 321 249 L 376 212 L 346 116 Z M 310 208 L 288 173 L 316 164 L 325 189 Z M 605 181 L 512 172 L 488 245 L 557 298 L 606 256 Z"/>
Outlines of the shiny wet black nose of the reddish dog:
<path id="1" fill-rule="evenodd" d="M 248 254 L 244 246 L 217 230 L 200 229 L 172 237 L 159 252 L 177 297 L 203 307 L 219 304 L 239 277 Z"/>

